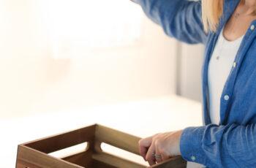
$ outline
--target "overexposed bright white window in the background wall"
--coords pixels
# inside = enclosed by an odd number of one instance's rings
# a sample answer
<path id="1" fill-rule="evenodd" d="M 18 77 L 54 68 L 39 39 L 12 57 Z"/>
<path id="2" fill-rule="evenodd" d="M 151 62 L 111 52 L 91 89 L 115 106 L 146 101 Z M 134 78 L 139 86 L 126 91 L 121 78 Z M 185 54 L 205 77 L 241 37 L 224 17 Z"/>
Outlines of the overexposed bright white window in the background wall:
<path id="1" fill-rule="evenodd" d="M 81 48 L 133 45 L 140 38 L 143 13 L 129 0 L 44 0 L 39 8 L 56 58 Z"/>

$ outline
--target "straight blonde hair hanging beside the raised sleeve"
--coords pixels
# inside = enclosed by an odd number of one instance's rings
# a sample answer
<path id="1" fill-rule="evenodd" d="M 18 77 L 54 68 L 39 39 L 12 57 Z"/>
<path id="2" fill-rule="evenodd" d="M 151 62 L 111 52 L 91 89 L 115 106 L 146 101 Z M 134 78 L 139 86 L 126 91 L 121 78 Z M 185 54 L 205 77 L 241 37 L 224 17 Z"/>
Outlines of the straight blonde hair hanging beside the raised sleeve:
<path id="1" fill-rule="evenodd" d="M 202 0 L 202 18 L 205 31 L 217 31 L 223 15 L 224 0 Z"/>

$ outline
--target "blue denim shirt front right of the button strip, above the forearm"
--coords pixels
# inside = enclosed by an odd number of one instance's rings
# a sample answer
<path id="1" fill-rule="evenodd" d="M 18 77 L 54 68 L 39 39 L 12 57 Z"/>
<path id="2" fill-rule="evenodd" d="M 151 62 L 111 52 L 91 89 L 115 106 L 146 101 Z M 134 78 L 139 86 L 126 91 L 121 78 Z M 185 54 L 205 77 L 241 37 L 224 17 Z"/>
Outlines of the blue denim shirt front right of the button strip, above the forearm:
<path id="1" fill-rule="evenodd" d="M 256 122 L 256 44 L 244 56 L 238 71 L 230 103 L 229 121 Z"/>

